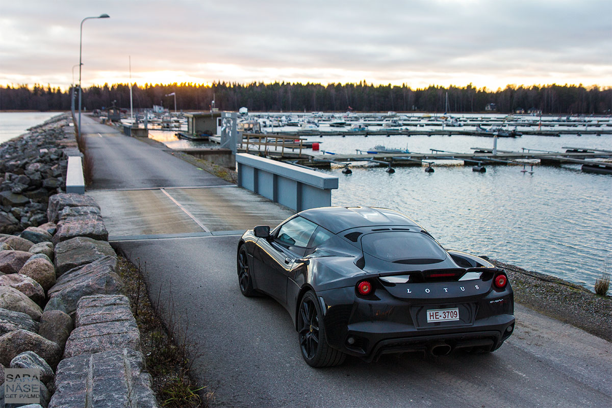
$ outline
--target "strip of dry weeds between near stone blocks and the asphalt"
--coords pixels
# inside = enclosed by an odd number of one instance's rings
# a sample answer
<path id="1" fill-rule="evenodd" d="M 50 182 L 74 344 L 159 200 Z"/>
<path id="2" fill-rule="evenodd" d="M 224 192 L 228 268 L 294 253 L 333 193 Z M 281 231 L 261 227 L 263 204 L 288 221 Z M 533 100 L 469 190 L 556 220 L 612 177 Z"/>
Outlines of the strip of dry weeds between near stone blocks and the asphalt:
<path id="1" fill-rule="evenodd" d="M 146 289 L 146 263 L 144 270 L 138 263 L 136 266 L 119 257 L 118 269 L 140 330 L 141 349 L 157 402 L 163 407 L 207 407 L 213 394 L 194 384 L 189 375 L 197 352 L 187 338 L 188 322 L 179 324 L 171 294 L 166 304 L 159 302 L 159 294 L 157 302 L 151 302 Z M 167 324 L 160 318 L 161 310 L 168 316 Z"/>

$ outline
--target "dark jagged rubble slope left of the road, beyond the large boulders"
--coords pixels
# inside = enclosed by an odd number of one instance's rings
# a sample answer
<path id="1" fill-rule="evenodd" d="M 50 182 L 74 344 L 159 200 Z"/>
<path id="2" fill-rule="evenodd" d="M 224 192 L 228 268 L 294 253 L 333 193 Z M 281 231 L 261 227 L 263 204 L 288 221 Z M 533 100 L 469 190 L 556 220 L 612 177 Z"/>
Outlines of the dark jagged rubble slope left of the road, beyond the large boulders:
<path id="1" fill-rule="evenodd" d="M 69 114 L 0 144 L 0 233 L 47 223 L 47 201 L 65 185 L 67 154 L 78 152 Z"/>

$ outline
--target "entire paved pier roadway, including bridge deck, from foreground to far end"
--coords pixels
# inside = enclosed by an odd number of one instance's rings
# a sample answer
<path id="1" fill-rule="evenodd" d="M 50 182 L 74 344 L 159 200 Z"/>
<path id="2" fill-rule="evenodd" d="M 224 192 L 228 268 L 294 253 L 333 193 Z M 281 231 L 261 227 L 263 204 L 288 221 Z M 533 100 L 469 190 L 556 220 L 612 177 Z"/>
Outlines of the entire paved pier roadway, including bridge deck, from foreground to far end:
<path id="1" fill-rule="evenodd" d="M 245 298 L 237 284 L 232 230 L 291 211 L 83 119 L 95 161 L 87 193 L 102 206 L 113 246 L 146 262 L 149 296 L 164 317 L 188 324 L 191 373 L 214 393 L 211 406 L 609 406 L 610 343 L 520 305 L 514 335 L 493 354 L 311 368 L 283 307 Z"/>

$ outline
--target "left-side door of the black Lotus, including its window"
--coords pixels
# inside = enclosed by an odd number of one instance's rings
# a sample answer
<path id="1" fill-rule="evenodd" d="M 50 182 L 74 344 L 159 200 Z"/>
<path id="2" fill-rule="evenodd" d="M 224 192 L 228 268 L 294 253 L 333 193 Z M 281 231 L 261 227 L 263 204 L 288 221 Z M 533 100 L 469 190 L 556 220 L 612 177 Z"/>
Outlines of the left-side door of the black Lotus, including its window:
<path id="1" fill-rule="evenodd" d="M 302 217 L 294 217 L 282 224 L 271 239 L 260 239 L 260 259 L 257 286 L 278 302 L 286 303 L 287 280 L 295 261 L 302 258 L 317 224 Z"/>

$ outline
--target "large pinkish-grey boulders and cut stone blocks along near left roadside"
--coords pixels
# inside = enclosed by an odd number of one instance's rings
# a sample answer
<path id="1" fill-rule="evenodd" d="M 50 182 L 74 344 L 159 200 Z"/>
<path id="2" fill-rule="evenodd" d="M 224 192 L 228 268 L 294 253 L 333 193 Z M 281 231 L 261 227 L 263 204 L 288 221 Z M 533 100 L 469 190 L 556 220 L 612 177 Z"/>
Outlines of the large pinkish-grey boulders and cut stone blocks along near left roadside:
<path id="1" fill-rule="evenodd" d="M 45 219 L 0 234 L 0 406 L 6 367 L 40 369 L 42 407 L 157 407 L 99 206 L 60 193 Z"/>

